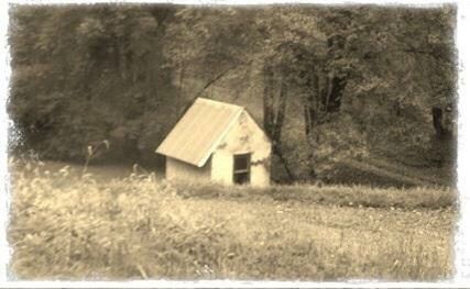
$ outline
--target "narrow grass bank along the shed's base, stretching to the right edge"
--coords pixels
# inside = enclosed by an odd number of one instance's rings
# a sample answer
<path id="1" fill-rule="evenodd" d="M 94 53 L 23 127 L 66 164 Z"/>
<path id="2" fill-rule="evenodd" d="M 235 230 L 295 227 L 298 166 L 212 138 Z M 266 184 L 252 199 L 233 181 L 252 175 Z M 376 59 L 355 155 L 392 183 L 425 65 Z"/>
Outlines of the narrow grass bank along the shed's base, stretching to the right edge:
<path id="1" fill-rule="evenodd" d="M 341 207 L 444 209 L 456 207 L 457 192 L 446 187 L 371 188 L 367 186 L 271 186 L 269 188 L 225 187 L 215 184 L 175 184 L 184 197 L 302 201 Z"/>

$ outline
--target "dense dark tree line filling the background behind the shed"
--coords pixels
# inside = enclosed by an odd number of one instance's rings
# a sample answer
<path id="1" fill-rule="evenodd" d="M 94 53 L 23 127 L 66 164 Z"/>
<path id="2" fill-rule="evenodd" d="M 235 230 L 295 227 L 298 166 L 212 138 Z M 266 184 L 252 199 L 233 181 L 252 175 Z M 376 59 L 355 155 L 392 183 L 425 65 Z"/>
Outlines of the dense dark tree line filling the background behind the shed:
<path id="1" fill-rule="evenodd" d="M 108 140 L 102 158 L 152 162 L 185 107 L 225 88 L 215 98 L 255 110 L 291 179 L 378 147 L 441 162 L 456 135 L 455 16 L 451 5 L 13 7 L 14 147 L 81 159 Z"/>

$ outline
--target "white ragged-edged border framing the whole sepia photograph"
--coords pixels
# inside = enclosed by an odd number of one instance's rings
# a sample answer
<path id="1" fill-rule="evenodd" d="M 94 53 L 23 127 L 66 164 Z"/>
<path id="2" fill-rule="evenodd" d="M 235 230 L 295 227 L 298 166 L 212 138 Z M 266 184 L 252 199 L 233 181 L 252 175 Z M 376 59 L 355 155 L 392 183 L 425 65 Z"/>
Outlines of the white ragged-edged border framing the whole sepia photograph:
<path id="1" fill-rule="evenodd" d="M 351 280 L 347 282 L 305 282 L 305 281 L 241 281 L 241 280 L 135 280 L 135 281 L 14 281 L 10 280 L 8 264 L 11 248 L 7 242 L 8 211 L 9 211 L 9 176 L 8 176 L 8 131 L 11 121 L 7 114 L 9 81 L 11 75 L 10 54 L 8 45 L 9 7 L 12 4 L 94 4 L 94 3 L 176 3 L 176 4 L 273 4 L 273 3 L 317 3 L 317 4 L 383 4 L 436 7 L 456 4 L 458 49 L 458 178 L 459 220 L 455 232 L 455 268 L 452 279 L 439 282 L 386 282 L 381 280 Z M 0 0 L 0 288 L 464 288 L 470 287 L 470 1 L 374 1 L 374 0 Z M 467 113 L 466 113 L 467 112 Z"/>

